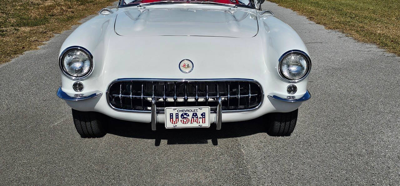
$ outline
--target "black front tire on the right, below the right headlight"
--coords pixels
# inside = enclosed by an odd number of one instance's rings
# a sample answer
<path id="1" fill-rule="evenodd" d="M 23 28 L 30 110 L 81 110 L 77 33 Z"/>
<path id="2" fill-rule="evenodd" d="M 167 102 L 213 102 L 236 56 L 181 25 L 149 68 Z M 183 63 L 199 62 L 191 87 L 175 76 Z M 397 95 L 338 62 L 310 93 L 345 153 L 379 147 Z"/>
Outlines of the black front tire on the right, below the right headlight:
<path id="1" fill-rule="evenodd" d="M 287 113 L 271 113 L 267 133 L 271 136 L 290 136 L 297 122 L 298 109 Z"/>

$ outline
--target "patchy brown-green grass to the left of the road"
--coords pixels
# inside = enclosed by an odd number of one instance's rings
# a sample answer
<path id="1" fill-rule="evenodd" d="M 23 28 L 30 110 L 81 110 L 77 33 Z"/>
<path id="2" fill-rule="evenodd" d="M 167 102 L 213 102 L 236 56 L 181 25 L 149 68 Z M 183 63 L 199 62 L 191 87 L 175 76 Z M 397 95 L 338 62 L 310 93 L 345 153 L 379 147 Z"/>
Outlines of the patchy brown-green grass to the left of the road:
<path id="1" fill-rule="evenodd" d="M 0 64 L 38 49 L 116 0 L 0 0 Z M 56 60 L 56 59 L 55 59 Z"/>

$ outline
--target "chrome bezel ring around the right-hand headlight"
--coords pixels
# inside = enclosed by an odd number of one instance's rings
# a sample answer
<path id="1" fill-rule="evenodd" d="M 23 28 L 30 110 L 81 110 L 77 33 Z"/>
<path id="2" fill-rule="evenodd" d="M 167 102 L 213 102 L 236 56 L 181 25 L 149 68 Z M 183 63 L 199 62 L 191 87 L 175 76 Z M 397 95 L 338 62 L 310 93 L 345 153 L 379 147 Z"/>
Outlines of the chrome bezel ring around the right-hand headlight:
<path id="1" fill-rule="evenodd" d="M 286 77 L 282 72 L 282 67 L 281 67 L 282 61 L 291 54 L 301 55 L 302 57 L 304 57 L 304 59 L 306 59 L 307 69 L 306 69 L 306 72 L 304 73 L 304 75 L 302 75 L 300 78 L 291 79 L 291 78 Z M 278 60 L 278 74 L 283 80 L 285 80 L 287 82 L 299 82 L 299 81 L 303 80 L 304 78 L 306 78 L 308 76 L 308 74 L 310 73 L 310 70 L 311 70 L 311 59 L 304 51 L 301 51 L 301 50 L 287 51 Z"/>

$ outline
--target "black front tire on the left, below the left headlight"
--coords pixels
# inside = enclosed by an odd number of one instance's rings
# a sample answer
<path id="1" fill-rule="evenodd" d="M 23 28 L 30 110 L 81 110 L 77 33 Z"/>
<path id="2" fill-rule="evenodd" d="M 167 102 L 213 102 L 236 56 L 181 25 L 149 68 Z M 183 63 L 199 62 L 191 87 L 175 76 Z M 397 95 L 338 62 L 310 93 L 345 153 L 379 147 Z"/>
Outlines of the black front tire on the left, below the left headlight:
<path id="1" fill-rule="evenodd" d="M 82 138 L 103 137 L 106 135 L 104 116 L 97 112 L 82 112 L 72 109 L 76 131 Z"/>

